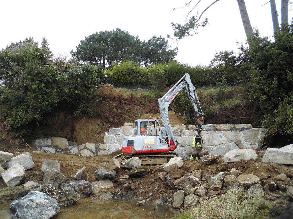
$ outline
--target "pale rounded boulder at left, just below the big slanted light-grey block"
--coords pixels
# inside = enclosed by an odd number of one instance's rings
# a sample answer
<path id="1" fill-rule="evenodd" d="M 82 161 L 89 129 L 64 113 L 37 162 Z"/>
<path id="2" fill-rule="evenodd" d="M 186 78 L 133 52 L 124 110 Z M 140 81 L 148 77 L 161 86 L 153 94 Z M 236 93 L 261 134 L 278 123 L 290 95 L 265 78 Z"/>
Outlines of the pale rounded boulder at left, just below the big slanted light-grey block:
<path id="1" fill-rule="evenodd" d="M 2 172 L 2 178 L 8 187 L 20 185 L 25 179 L 25 169 L 21 164 L 15 164 Z"/>

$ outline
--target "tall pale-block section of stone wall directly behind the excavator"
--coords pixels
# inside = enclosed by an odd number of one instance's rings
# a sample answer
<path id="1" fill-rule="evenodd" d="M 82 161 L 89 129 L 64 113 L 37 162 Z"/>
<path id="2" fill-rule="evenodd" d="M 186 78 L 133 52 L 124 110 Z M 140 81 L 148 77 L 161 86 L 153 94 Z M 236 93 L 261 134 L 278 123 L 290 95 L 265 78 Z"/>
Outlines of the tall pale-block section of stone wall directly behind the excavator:
<path id="1" fill-rule="evenodd" d="M 164 128 L 162 130 L 164 135 Z M 239 140 L 248 149 L 258 150 L 265 138 L 261 128 L 252 128 L 250 124 L 210 124 L 203 125 L 202 130 L 204 146 L 207 147 L 209 154 L 219 154 L 220 156 L 238 148 L 235 144 L 236 140 Z M 196 133 L 195 126 L 173 126 L 172 131 L 179 143 L 175 152 L 183 159 L 189 159 L 192 138 Z M 104 143 L 107 153 L 120 151 L 124 136 L 134 136 L 133 124 L 125 124 L 121 128 L 110 128 L 109 132 L 105 132 Z"/>

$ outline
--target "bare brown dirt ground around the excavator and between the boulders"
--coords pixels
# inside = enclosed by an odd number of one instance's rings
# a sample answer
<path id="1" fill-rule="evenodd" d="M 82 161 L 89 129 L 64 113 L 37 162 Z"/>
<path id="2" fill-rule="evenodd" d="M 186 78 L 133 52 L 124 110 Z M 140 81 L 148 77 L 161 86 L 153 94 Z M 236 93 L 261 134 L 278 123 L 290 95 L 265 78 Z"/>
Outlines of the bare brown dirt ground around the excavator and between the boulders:
<path id="1" fill-rule="evenodd" d="M 2 148 L 3 149 L 3 148 Z M 108 156 L 88 156 L 82 157 L 78 155 L 69 154 L 52 154 L 52 153 L 32 153 L 34 149 L 18 149 L 13 156 L 17 156 L 23 152 L 30 152 L 35 167 L 26 171 L 25 182 L 34 180 L 38 183 L 42 183 L 43 172 L 41 170 L 42 159 L 53 159 L 60 162 L 60 172 L 64 174 L 63 182 L 74 179 L 76 172 L 82 167 L 86 166 L 88 169 L 88 181 L 95 181 L 94 172 L 102 166 L 107 166 L 110 159 L 119 154 L 111 154 Z M 219 159 L 217 164 L 206 165 L 202 160 L 184 160 L 184 165 L 175 171 L 171 172 L 171 175 L 177 179 L 185 175 L 186 173 L 191 173 L 194 170 L 202 169 L 203 176 L 214 176 L 219 172 L 230 171 L 231 168 L 235 168 L 243 174 L 251 173 L 258 176 L 260 179 L 263 178 L 274 178 L 280 173 L 285 173 L 286 175 L 293 177 L 293 167 L 290 165 L 280 165 L 280 164 L 264 164 L 261 162 L 261 157 L 258 157 L 257 161 L 239 161 L 230 164 L 226 164 Z M 156 166 L 146 166 L 149 169 L 149 174 L 142 178 L 132 178 L 132 182 L 138 182 L 137 187 L 134 189 L 135 199 L 137 201 L 142 201 L 150 199 L 150 201 L 157 201 L 158 199 L 167 200 L 172 199 L 174 196 L 174 191 L 171 190 L 166 182 L 163 182 L 159 178 L 159 174 L 164 172 L 161 165 Z M 127 169 L 120 168 L 117 172 L 117 180 L 121 175 L 125 175 Z M 291 180 L 292 181 L 292 180 Z M 291 182 L 292 183 L 292 182 Z M 6 187 L 3 179 L 0 179 L 0 188 Z M 127 191 L 122 190 L 122 185 L 118 185 L 117 182 L 114 183 L 116 194 L 126 194 Z M 131 191 L 132 192 L 132 191 Z M 133 194 L 132 192 L 132 194 Z M 171 201 L 169 200 L 169 205 Z"/>

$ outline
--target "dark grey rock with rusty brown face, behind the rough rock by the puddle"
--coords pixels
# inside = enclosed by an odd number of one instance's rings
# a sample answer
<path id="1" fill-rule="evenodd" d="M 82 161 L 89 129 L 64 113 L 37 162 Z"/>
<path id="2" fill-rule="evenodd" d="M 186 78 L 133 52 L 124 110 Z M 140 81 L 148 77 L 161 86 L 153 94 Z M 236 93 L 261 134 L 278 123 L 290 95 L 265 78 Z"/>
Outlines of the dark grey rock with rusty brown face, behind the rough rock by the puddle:
<path id="1" fill-rule="evenodd" d="M 77 192 L 81 198 L 89 197 L 93 191 L 93 185 L 86 180 L 74 180 L 61 183 L 61 189 L 69 189 Z"/>

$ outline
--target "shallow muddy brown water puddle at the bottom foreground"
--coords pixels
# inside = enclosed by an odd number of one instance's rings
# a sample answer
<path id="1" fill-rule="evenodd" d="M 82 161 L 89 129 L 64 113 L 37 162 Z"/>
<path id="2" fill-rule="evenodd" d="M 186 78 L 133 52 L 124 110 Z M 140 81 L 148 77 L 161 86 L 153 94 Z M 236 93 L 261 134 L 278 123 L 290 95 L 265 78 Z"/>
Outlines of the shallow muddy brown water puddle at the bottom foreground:
<path id="1" fill-rule="evenodd" d="M 52 219 L 151 219 L 173 218 L 178 212 L 154 203 L 136 206 L 129 201 L 80 199 L 75 205 L 61 208 Z M 9 204 L 0 205 L 0 218 L 10 219 Z"/>

